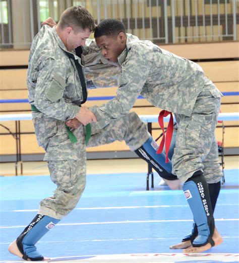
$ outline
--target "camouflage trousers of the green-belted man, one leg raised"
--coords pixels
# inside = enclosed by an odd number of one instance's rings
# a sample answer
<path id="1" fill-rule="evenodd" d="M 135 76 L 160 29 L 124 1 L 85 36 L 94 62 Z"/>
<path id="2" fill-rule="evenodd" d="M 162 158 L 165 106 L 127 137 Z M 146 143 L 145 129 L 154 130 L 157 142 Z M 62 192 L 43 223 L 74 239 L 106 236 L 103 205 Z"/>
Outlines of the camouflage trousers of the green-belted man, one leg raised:
<path id="1" fill-rule="evenodd" d="M 34 119 L 38 144 L 46 150 L 44 160 L 47 160 L 50 178 L 57 186 L 52 197 L 40 202 L 38 213 L 62 219 L 75 208 L 85 189 L 85 127 L 81 125 L 74 131 L 78 142 L 72 144 L 65 124 L 51 120 Z M 125 140 L 134 151 L 149 138 L 145 123 L 136 113 L 114 120 L 101 130 L 95 127 L 96 125 L 92 124 L 92 137 L 87 147 Z"/>

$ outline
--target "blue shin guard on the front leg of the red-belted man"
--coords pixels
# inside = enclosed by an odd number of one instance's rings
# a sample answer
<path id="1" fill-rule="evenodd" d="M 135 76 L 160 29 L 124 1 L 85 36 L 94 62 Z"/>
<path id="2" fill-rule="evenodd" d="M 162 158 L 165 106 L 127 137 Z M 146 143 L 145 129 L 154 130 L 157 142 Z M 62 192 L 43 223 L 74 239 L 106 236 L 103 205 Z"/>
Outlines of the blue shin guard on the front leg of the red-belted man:
<path id="1" fill-rule="evenodd" d="M 197 224 L 198 236 L 194 239 L 193 246 L 203 246 L 208 242 L 214 246 L 212 240 L 214 218 L 208 186 L 203 174 L 190 178 L 183 185 L 183 190 Z"/>

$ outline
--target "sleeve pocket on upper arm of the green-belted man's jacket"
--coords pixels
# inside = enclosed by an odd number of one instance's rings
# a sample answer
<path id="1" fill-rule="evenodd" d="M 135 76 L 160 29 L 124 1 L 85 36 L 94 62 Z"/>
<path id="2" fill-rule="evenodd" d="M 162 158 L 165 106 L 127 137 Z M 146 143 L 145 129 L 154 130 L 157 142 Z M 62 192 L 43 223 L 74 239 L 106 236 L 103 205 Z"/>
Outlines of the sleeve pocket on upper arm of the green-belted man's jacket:
<path id="1" fill-rule="evenodd" d="M 51 102 L 57 102 L 62 99 L 66 82 L 65 79 L 58 73 L 52 74 L 51 84 L 46 92 L 46 99 Z"/>

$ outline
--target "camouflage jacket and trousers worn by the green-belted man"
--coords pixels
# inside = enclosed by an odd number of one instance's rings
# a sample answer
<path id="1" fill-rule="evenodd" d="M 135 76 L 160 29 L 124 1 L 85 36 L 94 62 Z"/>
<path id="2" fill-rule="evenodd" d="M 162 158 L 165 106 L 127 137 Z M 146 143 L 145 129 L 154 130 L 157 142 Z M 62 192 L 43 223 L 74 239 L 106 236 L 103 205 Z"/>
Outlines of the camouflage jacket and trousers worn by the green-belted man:
<path id="1" fill-rule="evenodd" d="M 47 160 L 51 180 L 57 186 L 52 197 L 40 202 L 38 213 L 56 219 L 62 219 L 74 209 L 84 191 L 86 176 L 85 127 L 81 125 L 72 130 L 78 140 L 73 144 L 65 125 L 66 120 L 78 114 L 83 101 L 75 63 L 66 51 L 55 28 L 43 26 L 33 40 L 27 73 L 29 102 L 40 111 L 33 112 L 37 141 L 46 151 L 44 160 Z M 84 51 L 82 61 L 74 56 L 81 64 L 103 65 L 97 60 L 99 53 L 91 56 L 91 48 L 88 48 L 88 52 L 89 56 Z M 100 71 L 97 73 L 98 78 L 95 77 L 96 86 L 100 85 Z M 100 130 L 96 124 L 92 124 L 92 137 L 88 146 L 125 140 L 135 150 L 148 138 L 146 125 L 135 113 L 131 113 Z"/>

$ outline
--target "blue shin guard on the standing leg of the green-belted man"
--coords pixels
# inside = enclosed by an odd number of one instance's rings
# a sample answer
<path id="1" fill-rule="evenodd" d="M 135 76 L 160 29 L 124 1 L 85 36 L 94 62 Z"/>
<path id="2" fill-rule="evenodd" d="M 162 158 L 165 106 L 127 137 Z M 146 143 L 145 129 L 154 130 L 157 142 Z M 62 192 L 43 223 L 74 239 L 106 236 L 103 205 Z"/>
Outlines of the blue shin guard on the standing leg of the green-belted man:
<path id="1" fill-rule="evenodd" d="M 17 238 L 17 246 L 23 254 L 23 259 L 32 261 L 43 260 L 44 257 L 36 250 L 36 242 L 45 235 L 60 220 L 37 214 L 32 222 Z"/>

